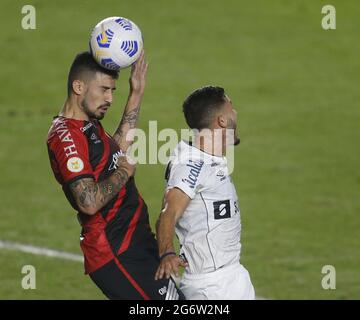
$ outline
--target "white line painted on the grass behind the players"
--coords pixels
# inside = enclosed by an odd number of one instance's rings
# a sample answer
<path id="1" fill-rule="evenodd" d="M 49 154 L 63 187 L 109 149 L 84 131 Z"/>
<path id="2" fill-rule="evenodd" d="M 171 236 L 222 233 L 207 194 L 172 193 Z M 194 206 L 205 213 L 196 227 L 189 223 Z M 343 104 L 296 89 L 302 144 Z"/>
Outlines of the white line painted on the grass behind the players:
<path id="1" fill-rule="evenodd" d="M 44 248 L 44 247 L 36 247 L 36 246 L 12 242 L 12 241 L 0 240 L 0 249 L 21 251 L 21 252 L 25 252 L 25 253 L 35 254 L 38 256 L 46 256 L 46 257 L 51 257 L 51 258 L 84 262 L 83 256 L 79 255 L 79 254 L 58 251 L 58 250 L 53 250 L 53 249 Z M 256 296 L 256 300 L 266 300 L 266 298 Z"/>

